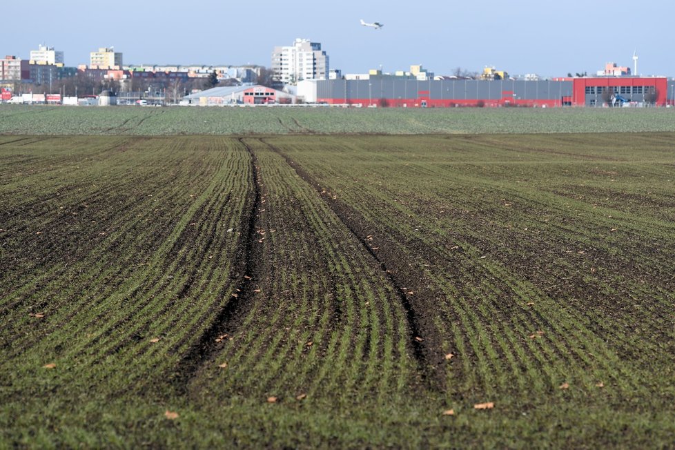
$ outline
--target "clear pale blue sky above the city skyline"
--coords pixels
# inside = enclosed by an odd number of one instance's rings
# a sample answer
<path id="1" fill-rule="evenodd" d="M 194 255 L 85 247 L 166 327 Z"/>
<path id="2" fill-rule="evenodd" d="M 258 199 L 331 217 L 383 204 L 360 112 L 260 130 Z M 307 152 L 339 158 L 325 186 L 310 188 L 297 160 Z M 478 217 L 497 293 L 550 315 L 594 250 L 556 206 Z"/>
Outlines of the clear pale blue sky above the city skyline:
<path id="1" fill-rule="evenodd" d="M 421 63 L 436 75 L 488 65 L 513 75 L 590 75 L 607 61 L 632 67 L 636 49 L 638 72 L 675 76 L 672 0 L 34 0 L 2 15 L 2 55 L 28 58 L 46 43 L 65 52 L 67 66 L 105 46 L 126 64 L 270 66 L 274 46 L 302 37 L 322 43 L 343 73 Z"/>

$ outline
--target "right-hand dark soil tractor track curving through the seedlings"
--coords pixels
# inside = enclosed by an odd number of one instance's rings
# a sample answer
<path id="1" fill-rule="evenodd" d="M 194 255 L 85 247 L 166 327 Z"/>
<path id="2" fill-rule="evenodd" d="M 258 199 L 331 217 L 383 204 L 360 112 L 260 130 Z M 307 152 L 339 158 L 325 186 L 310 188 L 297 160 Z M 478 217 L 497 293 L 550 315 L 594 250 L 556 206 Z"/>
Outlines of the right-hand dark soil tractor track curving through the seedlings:
<path id="1" fill-rule="evenodd" d="M 333 199 L 332 197 L 326 198 L 322 195 L 320 184 L 317 183 L 317 181 L 307 173 L 300 164 L 293 161 L 293 159 L 288 157 L 288 155 L 280 150 L 280 148 L 269 144 L 264 141 L 264 139 L 260 140 L 277 153 L 277 155 L 283 157 L 286 164 L 291 166 L 304 182 L 317 191 L 320 198 L 326 202 L 326 205 L 333 211 L 337 218 L 340 219 L 340 222 L 342 222 L 349 232 L 360 242 L 364 250 L 373 257 L 373 260 L 378 263 L 382 274 L 389 284 L 393 286 L 393 291 L 404 309 L 409 329 L 409 348 L 411 349 L 413 358 L 415 358 L 415 361 L 417 362 L 420 375 L 432 389 L 444 389 L 445 374 L 443 370 L 438 370 L 443 364 L 443 355 L 439 350 L 440 342 L 442 341 L 436 331 L 433 331 L 433 324 L 428 324 L 424 321 L 422 306 L 413 303 L 414 300 L 411 301 L 411 295 L 409 295 L 410 291 L 404 287 L 405 284 L 403 284 L 402 280 L 394 275 L 392 269 L 397 266 L 397 264 L 395 264 L 395 259 L 383 256 L 382 253 L 376 252 L 375 248 L 369 246 L 370 234 L 367 230 L 367 226 L 364 225 L 364 221 L 360 220 L 358 211 L 355 211 L 351 206 L 344 204 L 344 202 L 340 202 L 339 199 Z"/>

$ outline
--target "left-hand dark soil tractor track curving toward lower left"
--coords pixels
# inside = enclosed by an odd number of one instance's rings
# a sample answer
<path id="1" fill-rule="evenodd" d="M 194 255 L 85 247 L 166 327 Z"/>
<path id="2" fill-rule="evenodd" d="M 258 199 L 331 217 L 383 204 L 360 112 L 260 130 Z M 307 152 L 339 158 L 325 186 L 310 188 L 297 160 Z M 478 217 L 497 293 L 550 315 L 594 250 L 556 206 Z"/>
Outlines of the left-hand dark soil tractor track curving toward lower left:
<path id="1" fill-rule="evenodd" d="M 202 333 L 199 339 L 190 346 L 190 349 L 181 358 L 177 371 L 172 379 L 172 384 L 176 391 L 181 394 L 188 392 L 190 380 L 195 378 L 199 369 L 209 360 L 215 358 L 220 345 L 216 342 L 220 335 L 232 335 L 238 329 L 238 324 L 242 317 L 246 315 L 245 309 L 253 304 L 253 298 L 256 293 L 254 289 L 257 286 L 262 273 L 261 265 L 264 263 L 262 246 L 256 246 L 257 230 L 263 228 L 260 225 L 260 213 L 262 209 L 262 186 L 260 184 L 260 174 L 257 167 L 257 158 L 251 147 L 244 143 L 243 138 L 239 138 L 239 143 L 246 148 L 251 158 L 251 179 L 253 182 L 253 195 L 248 200 L 249 206 L 244 208 L 248 211 L 242 215 L 242 242 L 238 248 L 236 262 L 233 264 L 231 279 L 235 289 L 233 295 L 229 297 L 226 304 L 217 313 L 211 325 Z M 236 297 L 235 297 L 236 295 Z"/>

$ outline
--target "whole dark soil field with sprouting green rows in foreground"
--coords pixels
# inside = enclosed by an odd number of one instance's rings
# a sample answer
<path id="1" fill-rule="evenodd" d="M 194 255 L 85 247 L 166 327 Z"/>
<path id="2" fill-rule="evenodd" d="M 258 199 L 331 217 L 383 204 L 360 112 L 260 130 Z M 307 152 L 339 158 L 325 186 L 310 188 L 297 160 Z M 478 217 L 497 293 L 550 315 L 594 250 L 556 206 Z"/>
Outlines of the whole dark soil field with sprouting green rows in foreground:
<path id="1" fill-rule="evenodd" d="M 0 447 L 672 447 L 674 139 L 0 136 Z"/>

